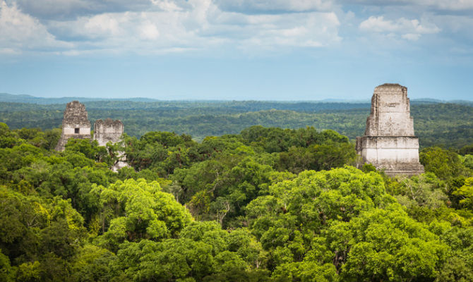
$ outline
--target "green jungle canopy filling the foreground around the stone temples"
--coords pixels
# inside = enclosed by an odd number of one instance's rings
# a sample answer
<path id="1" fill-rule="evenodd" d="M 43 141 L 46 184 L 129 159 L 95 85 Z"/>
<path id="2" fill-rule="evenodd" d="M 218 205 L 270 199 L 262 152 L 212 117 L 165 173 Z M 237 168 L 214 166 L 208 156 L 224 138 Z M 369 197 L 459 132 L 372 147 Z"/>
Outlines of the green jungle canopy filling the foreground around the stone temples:
<path id="1" fill-rule="evenodd" d="M 419 111 L 456 111 L 453 128 L 471 130 L 467 106 L 413 106 L 417 129 Z M 314 127 L 258 125 L 201 142 L 150 131 L 55 152 L 59 135 L 0 123 L 0 281 L 473 281 L 473 142 L 424 147 L 426 173 L 393 179 L 354 168 L 349 138 Z M 117 152 L 131 167 L 114 173 Z"/>

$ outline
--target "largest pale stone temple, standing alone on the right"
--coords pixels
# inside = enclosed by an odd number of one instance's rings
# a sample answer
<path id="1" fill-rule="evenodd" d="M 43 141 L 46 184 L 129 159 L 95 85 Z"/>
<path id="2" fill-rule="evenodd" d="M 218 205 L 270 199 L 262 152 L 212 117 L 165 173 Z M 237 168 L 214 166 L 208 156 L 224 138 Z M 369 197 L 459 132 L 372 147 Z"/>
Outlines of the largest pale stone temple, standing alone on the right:
<path id="1" fill-rule="evenodd" d="M 407 87 L 386 83 L 374 89 L 366 131 L 357 137 L 357 154 L 362 163 L 373 164 L 388 176 L 424 173 Z"/>

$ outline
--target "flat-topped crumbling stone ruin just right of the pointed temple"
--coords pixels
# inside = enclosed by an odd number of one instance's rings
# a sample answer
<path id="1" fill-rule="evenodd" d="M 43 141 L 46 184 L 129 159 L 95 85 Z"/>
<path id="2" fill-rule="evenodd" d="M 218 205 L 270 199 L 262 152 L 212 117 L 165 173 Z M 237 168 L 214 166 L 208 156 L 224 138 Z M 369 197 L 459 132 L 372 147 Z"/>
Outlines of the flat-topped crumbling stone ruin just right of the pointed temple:
<path id="1" fill-rule="evenodd" d="M 97 140 L 99 146 L 106 146 L 108 142 L 117 143 L 121 141 L 121 135 L 124 133 L 124 125 L 119 120 L 107 118 L 102 121 L 97 119 L 94 123 L 94 140 Z M 112 171 L 118 171 L 120 168 L 128 166 L 124 152 L 117 152 L 118 161 L 112 167 Z"/>

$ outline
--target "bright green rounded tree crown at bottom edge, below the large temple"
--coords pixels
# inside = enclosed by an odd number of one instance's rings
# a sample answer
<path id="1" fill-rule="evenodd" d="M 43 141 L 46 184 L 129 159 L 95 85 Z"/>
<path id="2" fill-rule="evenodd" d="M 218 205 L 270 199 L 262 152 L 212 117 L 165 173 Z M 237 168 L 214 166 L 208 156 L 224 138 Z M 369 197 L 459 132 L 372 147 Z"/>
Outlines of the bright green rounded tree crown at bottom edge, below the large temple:
<path id="1" fill-rule="evenodd" d="M 340 272 L 346 281 L 435 278 L 449 250 L 426 226 L 409 219 L 395 205 L 337 223 L 329 228 L 328 236 L 335 252 L 340 252 L 336 259 L 346 261 Z"/>

